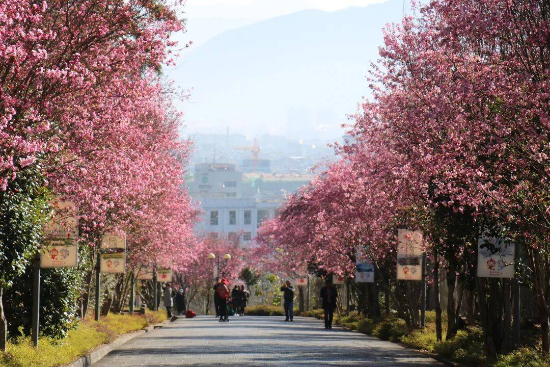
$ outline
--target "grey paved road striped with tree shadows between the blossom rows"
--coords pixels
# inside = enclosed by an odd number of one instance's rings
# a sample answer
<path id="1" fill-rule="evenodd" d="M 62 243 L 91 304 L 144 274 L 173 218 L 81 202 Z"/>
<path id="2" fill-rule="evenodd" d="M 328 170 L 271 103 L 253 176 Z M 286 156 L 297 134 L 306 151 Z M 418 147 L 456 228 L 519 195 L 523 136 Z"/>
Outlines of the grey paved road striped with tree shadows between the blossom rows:
<path id="1" fill-rule="evenodd" d="M 296 317 L 179 319 L 113 350 L 92 367 L 442 366 L 398 344 Z"/>

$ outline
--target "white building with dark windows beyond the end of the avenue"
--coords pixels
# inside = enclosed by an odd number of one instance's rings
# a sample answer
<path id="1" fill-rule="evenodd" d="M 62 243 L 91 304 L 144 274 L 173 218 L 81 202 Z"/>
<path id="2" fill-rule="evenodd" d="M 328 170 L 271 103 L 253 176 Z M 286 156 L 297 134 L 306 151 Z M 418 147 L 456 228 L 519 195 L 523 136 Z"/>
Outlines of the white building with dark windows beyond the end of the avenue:
<path id="1" fill-rule="evenodd" d="M 197 232 L 208 235 L 239 235 L 244 243 L 256 236 L 263 221 L 277 214 L 278 200 L 243 198 L 243 177 L 235 165 L 201 163 L 195 166 L 191 196 L 200 201 L 203 218 Z"/>

